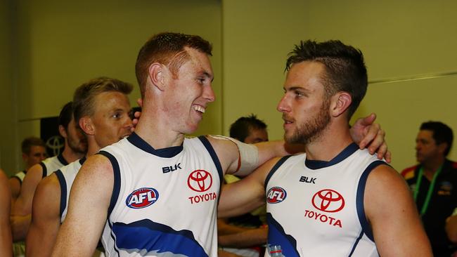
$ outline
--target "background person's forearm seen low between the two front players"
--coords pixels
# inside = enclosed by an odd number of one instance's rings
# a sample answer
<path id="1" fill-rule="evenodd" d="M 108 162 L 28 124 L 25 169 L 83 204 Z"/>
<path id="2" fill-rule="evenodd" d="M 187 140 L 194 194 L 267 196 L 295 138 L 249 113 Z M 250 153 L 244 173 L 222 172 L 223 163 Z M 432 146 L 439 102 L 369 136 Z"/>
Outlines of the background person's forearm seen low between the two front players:
<path id="1" fill-rule="evenodd" d="M 219 235 L 219 246 L 224 247 L 250 247 L 266 244 L 268 228 L 255 228 L 231 235 Z"/>

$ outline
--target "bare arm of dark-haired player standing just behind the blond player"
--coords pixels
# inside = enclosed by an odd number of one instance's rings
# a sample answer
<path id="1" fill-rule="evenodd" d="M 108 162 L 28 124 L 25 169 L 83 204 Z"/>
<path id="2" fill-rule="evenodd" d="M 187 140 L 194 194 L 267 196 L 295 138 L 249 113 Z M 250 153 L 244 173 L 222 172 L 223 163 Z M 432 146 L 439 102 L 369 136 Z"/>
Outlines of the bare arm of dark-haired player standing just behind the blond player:
<path id="1" fill-rule="evenodd" d="M 11 228 L 13 230 L 13 240 L 23 240 L 27 235 L 30 225 L 30 214 L 32 213 L 32 201 L 35 189 L 41 178 L 43 169 L 39 164 L 30 167 L 22 181 L 20 195 L 16 200 L 11 213 Z"/>

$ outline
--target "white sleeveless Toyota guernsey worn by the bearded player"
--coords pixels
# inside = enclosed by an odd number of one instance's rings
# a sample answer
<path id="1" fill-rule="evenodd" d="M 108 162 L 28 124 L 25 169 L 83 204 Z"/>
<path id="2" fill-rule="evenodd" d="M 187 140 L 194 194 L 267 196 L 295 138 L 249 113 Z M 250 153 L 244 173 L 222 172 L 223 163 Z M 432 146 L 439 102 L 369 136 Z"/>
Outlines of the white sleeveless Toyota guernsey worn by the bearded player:
<path id="1" fill-rule="evenodd" d="M 363 193 L 381 164 L 354 143 L 330 162 L 306 154 L 280 159 L 265 180 L 268 243 L 287 257 L 378 256 Z"/>

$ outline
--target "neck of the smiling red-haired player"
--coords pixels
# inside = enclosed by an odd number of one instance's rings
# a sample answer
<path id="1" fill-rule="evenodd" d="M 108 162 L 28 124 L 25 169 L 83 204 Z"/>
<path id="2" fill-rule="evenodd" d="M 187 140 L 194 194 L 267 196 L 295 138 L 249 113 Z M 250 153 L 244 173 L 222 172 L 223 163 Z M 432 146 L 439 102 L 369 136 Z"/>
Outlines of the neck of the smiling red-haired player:
<path id="1" fill-rule="evenodd" d="M 144 101 L 141 118 L 135 128 L 135 133 L 154 149 L 179 146 L 184 141 L 184 133 L 173 131 L 174 121 L 169 121 L 166 112 L 160 106 Z"/>

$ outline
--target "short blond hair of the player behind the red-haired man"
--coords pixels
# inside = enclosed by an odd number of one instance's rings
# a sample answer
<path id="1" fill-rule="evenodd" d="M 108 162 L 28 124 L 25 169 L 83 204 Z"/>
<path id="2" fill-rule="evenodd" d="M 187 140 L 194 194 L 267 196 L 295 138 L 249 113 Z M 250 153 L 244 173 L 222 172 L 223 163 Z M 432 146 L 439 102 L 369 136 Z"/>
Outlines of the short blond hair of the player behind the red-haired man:
<path id="1" fill-rule="evenodd" d="M 79 127 L 79 119 L 94 114 L 94 99 L 98 94 L 115 91 L 128 95 L 131 93 L 132 88 L 133 86 L 127 82 L 108 77 L 91 79 L 78 86 L 73 95 L 73 113 L 75 114 L 77 127 Z"/>

